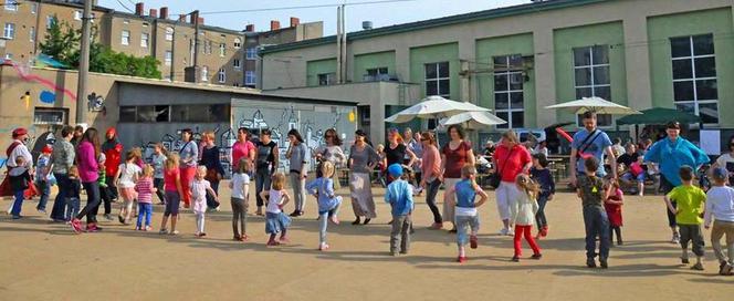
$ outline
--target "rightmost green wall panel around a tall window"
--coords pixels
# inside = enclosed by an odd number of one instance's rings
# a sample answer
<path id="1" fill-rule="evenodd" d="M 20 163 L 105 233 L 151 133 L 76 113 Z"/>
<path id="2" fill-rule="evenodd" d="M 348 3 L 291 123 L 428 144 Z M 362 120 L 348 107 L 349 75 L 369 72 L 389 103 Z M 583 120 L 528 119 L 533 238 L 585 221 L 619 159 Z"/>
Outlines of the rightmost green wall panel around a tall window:
<path id="1" fill-rule="evenodd" d="M 734 27 L 730 8 L 661 15 L 648 19 L 650 45 L 650 81 L 652 105 L 674 107 L 673 66 L 670 38 L 707 34 L 714 35 L 716 79 L 719 84 L 719 123 L 721 127 L 733 127 L 734 118 Z"/>

